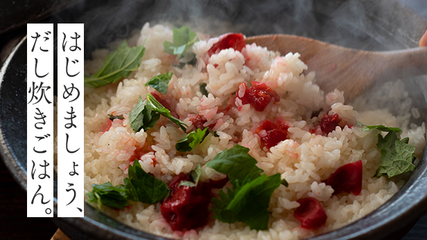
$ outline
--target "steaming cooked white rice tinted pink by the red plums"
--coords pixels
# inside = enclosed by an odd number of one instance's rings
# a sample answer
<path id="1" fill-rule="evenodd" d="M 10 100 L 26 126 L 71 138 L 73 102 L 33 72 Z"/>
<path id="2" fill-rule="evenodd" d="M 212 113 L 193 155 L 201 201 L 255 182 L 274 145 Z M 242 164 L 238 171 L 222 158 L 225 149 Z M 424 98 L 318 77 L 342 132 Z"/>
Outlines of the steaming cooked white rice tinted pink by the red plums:
<path id="1" fill-rule="evenodd" d="M 103 207 L 103 211 L 127 225 L 175 239 L 302 239 L 315 234 L 329 232 L 347 225 L 385 203 L 404 184 L 399 178 L 390 181 L 387 177 L 373 178 L 381 154 L 376 148 L 378 140 L 376 130 L 361 131 L 360 127 L 337 127 L 328 136 L 308 132 L 317 126 L 323 114 L 338 113 L 340 118 L 351 124 L 356 120 L 364 124 L 384 124 L 401 127 L 402 136 L 410 138 L 415 145 L 417 157 L 421 157 L 426 144 L 424 124 L 409 124 L 409 118 L 419 118 L 419 111 L 406 108 L 403 116 L 392 116 L 386 109 L 356 112 L 345 105 L 342 92 L 336 90 L 326 95 L 315 84 L 315 74 L 302 74 L 307 66 L 299 60 L 298 53 L 280 56 L 260 46 L 247 45 L 242 53 L 230 49 L 207 57 L 207 50 L 218 38 L 198 34 L 199 39 L 193 46 L 198 57 L 197 66 L 175 68 L 172 58 L 164 53 L 163 42 L 172 41 L 172 30 L 166 26 L 150 27 L 145 24 L 138 39 L 133 42 L 143 44 L 146 54 L 139 69 L 119 84 L 110 84 L 100 89 L 85 89 L 85 193 L 92 190 L 92 184 L 110 181 L 113 185 L 123 184 L 127 177 L 127 167 L 134 151 L 143 145 L 152 145 L 152 151 L 146 152 L 139 163 L 146 172 L 168 183 L 173 176 L 189 173 L 195 165 L 202 165 L 202 181 L 218 178 L 218 173 L 204 166 L 223 149 L 235 144 L 250 148 L 250 154 L 258 161 L 257 166 L 265 174 L 281 174 L 289 187 L 281 185 L 270 199 L 269 230 L 256 231 L 244 223 L 222 223 L 211 219 L 209 224 L 199 230 L 173 232 L 160 213 L 160 204 L 147 205 L 132 202 L 125 210 L 112 210 Z M 103 63 L 108 50 L 96 50 L 93 60 L 85 62 L 87 73 L 94 73 Z M 204 59 L 209 59 L 208 64 Z M 245 60 L 246 59 L 246 60 Z M 129 126 L 128 114 L 137 103 L 139 95 L 153 91 L 144 84 L 153 76 L 173 71 L 166 98 L 172 111 L 193 129 L 192 116 L 200 114 L 209 124 L 215 124 L 214 130 L 219 137 L 209 135 L 193 151 L 187 154 L 177 153 L 175 143 L 184 133 L 177 125 L 161 118 L 158 124 L 144 132 L 135 133 Z M 270 103 L 262 112 L 255 111 L 249 104 L 243 105 L 231 98 L 239 91 L 238 84 L 252 81 L 264 82 L 275 89 L 281 100 Z M 202 96 L 199 85 L 207 83 L 209 96 Z M 401 93 L 401 102 L 408 93 Z M 393 91 L 394 91 L 393 90 Z M 238 93 L 239 94 L 239 93 Z M 386 96 L 387 98 L 387 96 Z M 237 107 L 225 115 L 218 107 L 235 101 Z M 409 102 L 410 104 L 410 102 Z M 312 114 L 317 116 L 311 118 Z M 112 127 L 101 133 L 101 126 L 107 121 L 107 114 L 121 115 L 125 120 L 114 120 Z M 406 114 L 407 113 L 407 114 Z M 270 150 L 261 149 L 261 140 L 251 129 L 265 119 L 281 117 L 290 125 L 289 139 L 280 142 Z M 362 160 L 363 190 L 360 195 L 333 195 L 333 189 L 322 183 L 338 167 L 346 163 Z M 157 164 L 154 164 L 157 163 Z M 218 193 L 218 191 L 217 191 Z M 326 224 L 317 230 L 300 228 L 293 216 L 299 206 L 298 199 L 313 197 L 322 203 L 328 216 Z"/>

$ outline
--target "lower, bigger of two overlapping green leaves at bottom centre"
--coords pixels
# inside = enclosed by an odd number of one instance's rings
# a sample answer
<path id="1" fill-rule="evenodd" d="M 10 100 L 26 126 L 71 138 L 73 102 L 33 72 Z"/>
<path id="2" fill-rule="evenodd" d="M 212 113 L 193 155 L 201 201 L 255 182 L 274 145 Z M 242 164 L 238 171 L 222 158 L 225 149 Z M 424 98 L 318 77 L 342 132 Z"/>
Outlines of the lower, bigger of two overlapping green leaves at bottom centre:
<path id="1" fill-rule="evenodd" d="M 233 190 L 227 189 L 227 194 L 221 190 L 221 200 L 214 200 L 214 218 L 226 223 L 241 221 L 251 229 L 267 230 L 270 197 L 280 183 L 280 174 L 264 174 L 241 186 L 236 180 Z"/>

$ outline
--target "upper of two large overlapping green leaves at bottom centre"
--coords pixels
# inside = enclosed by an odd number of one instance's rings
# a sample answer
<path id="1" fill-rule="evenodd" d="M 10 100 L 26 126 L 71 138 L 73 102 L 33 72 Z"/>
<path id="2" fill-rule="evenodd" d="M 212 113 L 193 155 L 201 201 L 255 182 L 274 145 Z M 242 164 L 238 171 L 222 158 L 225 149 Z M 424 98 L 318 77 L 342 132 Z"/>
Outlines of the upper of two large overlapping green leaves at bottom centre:
<path id="1" fill-rule="evenodd" d="M 242 182 L 248 175 L 253 180 L 263 170 L 256 167 L 256 163 L 258 162 L 248 152 L 248 148 L 235 145 L 231 149 L 221 151 L 214 159 L 207 162 L 207 166 L 215 169 L 217 172 L 227 174 L 231 183 L 234 183 L 236 179 Z"/>

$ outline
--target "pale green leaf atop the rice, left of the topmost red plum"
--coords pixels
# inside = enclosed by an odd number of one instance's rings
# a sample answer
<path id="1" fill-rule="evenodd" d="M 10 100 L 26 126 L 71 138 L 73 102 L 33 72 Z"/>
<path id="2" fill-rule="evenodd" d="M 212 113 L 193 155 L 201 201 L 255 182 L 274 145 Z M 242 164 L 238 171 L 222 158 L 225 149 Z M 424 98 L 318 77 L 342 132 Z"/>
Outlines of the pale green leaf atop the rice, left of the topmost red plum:
<path id="1" fill-rule="evenodd" d="M 189 28 L 189 26 L 183 26 L 182 28 L 173 29 L 173 43 L 170 41 L 164 41 L 164 52 L 170 55 L 177 55 L 177 59 L 182 63 L 191 62 L 195 54 L 191 51 L 191 46 L 198 41 L 195 38 L 195 33 Z"/>

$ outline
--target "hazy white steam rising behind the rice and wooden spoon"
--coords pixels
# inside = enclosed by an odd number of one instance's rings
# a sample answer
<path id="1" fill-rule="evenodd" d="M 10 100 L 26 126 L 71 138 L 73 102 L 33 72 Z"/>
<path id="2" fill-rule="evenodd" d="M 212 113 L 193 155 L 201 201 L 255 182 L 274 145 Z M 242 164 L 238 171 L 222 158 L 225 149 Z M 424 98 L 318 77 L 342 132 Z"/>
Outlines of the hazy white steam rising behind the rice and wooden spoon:
<path id="1" fill-rule="evenodd" d="M 408 21 L 401 21 L 397 14 L 408 16 Z M 84 23 L 85 58 L 90 58 L 95 48 L 129 37 L 146 21 L 189 25 L 211 35 L 285 33 L 349 48 L 391 50 L 417 46 L 425 28 L 408 24 L 417 22 L 416 18 L 390 0 L 92 0 L 54 15 L 52 21 Z"/>

